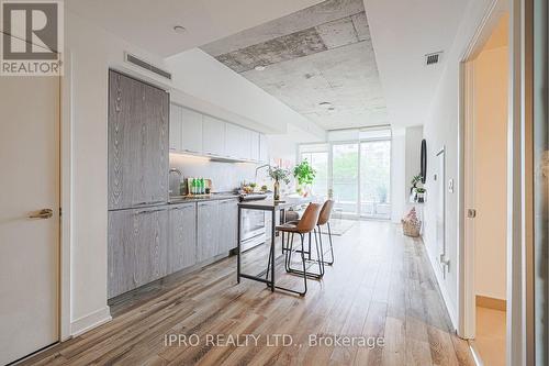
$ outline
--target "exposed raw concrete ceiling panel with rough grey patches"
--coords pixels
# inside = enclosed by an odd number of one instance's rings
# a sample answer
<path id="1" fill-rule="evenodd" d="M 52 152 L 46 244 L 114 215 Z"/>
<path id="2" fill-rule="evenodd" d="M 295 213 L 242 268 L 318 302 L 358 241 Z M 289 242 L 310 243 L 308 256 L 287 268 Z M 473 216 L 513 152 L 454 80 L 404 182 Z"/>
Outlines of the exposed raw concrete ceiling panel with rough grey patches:
<path id="1" fill-rule="evenodd" d="M 390 122 L 362 0 L 327 0 L 201 48 L 325 130 Z"/>

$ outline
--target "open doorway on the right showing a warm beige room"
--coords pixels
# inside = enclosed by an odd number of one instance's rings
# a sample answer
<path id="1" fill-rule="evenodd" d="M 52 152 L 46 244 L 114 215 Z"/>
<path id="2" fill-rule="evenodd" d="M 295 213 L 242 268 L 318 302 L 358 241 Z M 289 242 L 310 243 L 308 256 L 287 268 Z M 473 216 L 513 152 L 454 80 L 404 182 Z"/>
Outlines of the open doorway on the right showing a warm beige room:
<path id="1" fill-rule="evenodd" d="M 505 365 L 509 16 L 492 14 L 464 63 L 466 337 L 486 365 Z"/>

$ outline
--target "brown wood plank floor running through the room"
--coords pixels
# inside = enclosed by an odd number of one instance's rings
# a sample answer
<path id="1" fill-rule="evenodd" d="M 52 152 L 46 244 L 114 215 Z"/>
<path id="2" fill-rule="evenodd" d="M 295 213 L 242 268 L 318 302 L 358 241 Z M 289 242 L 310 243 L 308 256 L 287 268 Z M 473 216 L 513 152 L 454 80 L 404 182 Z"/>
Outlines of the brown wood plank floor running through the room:
<path id="1" fill-rule="evenodd" d="M 322 281 L 309 281 L 304 298 L 245 279 L 237 285 L 229 257 L 114 304 L 113 321 L 24 365 L 473 365 L 467 342 L 450 330 L 421 241 L 376 221 L 334 240 L 335 265 Z M 243 270 L 259 273 L 262 254 L 248 252 Z M 280 285 L 302 286 L 281 260 L 277 274 Z M 192 334 L 198 345 L 190 344 Z M 242 345 L 246 334 L 257 346 Z M 276 346 L 276 334 L 287 334 L 292 345 L 280 339 Z M 310 334 L 382 339 L 384 345 L 315 346 Z M 187 336 L 187 345 L 170 345 L 170 335 Z M 217 335 L 224 342 L 212 342 Z M 242 344 L 227 344 L 231 335 Z"/>

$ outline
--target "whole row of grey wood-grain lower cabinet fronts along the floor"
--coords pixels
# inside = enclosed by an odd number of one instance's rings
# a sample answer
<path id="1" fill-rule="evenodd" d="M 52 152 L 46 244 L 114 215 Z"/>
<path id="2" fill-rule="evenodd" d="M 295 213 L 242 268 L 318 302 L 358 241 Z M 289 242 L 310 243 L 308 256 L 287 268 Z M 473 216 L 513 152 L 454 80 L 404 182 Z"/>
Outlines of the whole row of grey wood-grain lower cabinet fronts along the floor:
<path id="1" fill-rule="evenodd" d="M 109 298 L 237 246 L 237 200 L 109 211 Z"/>

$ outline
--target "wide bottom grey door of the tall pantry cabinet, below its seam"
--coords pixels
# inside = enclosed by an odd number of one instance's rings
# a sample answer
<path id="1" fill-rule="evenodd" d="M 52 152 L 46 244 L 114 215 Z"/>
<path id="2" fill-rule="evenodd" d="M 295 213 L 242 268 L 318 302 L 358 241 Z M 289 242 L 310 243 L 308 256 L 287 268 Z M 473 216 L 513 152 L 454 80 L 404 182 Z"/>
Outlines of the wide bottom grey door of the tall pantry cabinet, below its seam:
<path id="1" fill-rule="evenodd" d="M 167 206 L 109 212 L 109 298 L 168 273 Z"/>

